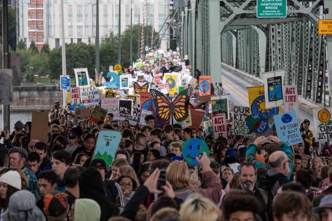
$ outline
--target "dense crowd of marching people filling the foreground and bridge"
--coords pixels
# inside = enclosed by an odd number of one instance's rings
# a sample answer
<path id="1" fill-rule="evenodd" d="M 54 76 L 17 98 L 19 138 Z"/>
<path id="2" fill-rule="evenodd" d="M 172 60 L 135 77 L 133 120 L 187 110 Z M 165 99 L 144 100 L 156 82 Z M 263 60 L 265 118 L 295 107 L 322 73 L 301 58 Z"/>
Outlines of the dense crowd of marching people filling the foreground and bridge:
<path id="1" fill-rule="evenodd" d="M 72 115 L 50 113 L 47 143 L 30 139 L 31 122 L 1 132 L 0 221 L 332 220 L 332 158 L 308 120 L 303 143 L 288 146 L 276 136 L 215 139 L 201 127 L 157 128 L 154 115 L 142 127 L 120 125 L 112 113 L 97 123 Z M 93 158 L 102 129 L 122 135 L 112 165 Z M 196 157 L 199 166 L 182 158 L 191 138 L 209 147 Z M 159 187 L 161 173 L 167 181 Z"/>

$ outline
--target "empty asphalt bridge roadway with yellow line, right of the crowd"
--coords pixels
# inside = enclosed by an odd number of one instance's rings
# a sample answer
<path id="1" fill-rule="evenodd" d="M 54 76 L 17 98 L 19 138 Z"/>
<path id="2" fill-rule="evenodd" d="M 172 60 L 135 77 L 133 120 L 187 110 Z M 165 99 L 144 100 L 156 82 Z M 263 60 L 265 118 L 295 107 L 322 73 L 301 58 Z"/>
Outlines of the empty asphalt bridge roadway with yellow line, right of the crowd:
<path id="1" fill-rule="evenodd" d="M 230 94 L 230 103 L 240 106 L 249 106 L 247 86 L 261 85 L 261 83 L 244 75 L 230 72 L 221 68 L 222 87 L 226 94 Z M 300 105 L 299 122 L 308 119 L 313 124 L 313 115 L 303 111 Z"/>

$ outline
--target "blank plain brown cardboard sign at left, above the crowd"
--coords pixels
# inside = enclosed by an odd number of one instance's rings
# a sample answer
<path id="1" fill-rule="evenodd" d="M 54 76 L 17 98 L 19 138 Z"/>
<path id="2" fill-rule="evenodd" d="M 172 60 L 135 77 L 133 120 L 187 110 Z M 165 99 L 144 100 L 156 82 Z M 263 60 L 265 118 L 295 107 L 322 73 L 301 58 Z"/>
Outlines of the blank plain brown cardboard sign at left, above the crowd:
<path id="1" fill-rule="evenodd" d="M 30 140 L 39 140 L 47 143 L 48 123 L 47 112 L 32 112 Z"/>

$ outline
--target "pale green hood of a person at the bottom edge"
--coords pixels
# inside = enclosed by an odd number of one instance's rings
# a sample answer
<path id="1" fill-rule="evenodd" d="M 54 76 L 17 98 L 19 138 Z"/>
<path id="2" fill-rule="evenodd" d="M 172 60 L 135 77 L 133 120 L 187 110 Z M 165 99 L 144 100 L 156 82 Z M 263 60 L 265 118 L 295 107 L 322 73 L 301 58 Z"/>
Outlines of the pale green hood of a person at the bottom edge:
<path id="1" fill-rule="evenodd" d="M 96 201 L 88 198 L 75 201 L 74 221 L 99 221 L 100 215 L 100 206 Z"/>

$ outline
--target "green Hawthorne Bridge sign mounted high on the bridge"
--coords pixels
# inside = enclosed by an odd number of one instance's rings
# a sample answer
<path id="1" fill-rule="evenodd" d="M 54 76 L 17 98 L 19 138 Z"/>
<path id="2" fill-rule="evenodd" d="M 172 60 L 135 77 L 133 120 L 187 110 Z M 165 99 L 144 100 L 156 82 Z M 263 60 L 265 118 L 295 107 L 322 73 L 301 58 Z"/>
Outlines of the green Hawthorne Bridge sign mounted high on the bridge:
<path id="1" fill-rule="evenodd" d="M 287 0 L 257 0 L 257 17 L 287 17 Z"/>

